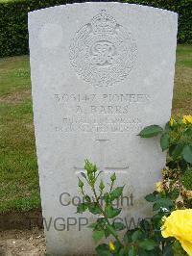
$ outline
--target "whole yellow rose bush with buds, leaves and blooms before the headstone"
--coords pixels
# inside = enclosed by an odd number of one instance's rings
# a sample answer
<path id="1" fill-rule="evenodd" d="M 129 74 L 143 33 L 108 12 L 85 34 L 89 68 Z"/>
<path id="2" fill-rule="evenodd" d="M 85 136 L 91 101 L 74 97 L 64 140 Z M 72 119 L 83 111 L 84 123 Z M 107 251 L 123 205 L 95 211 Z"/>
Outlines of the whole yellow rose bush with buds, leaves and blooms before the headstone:
<path id="1" fill-rule="evenodd" d="M 92 196 L 85 192 L 84 181 L 79 178 L 84 203 L 78 205 L 77 212 L 83 214 L 89 211 L 97 216 L 97 220 L 89 226 L 96 243 L 110 237 L 109 243 L 97 245 L 98 255 L 172 256 L 176 239 L 192 255 L 192 226 L 188 225 L 192 222 L 192 210 L 185 209 L 192 201 L 192 191 L 182 184 L 182 175 L 191 169 L 192 164 L 192 116 L 184 115 L 177 120 L 171 118 L 164 128 L 150 125 L 139 133 L 141 138 L 159 135 L 162 151 L 167 150 L 168 162 L 162 170 L 162 181 L 156 183 L 156 191 L 145 196 L 147 201 L 153 203 L 154 216 L 142 219 L 137 228 L 127 230 L 123 238 L 119 232 L 126 226 L 115 220 L 122 209 L 114 207 L 113 201 L 122 195 L 124 186 L 115 187 L 115 173 L 110 176 L 108 185 L 99 181 L 101 171 L 96 165 L 85 161 L 85 173 L 81 174 Z"/>

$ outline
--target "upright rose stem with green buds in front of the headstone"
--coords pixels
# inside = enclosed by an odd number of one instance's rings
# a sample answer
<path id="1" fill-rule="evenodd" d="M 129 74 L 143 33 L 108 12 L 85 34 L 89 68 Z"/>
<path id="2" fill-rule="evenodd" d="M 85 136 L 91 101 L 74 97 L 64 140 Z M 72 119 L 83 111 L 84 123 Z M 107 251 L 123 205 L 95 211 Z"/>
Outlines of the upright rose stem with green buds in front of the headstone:
<path id="1" fill-rule="evenodd" d="M 97 166 L 91 164 L 87 160 L 85 161 L 84 169 L 86 173 L 82 172 L 82 177 L 85 182 L 89 185 L 92 196 L 89 196 L 84 192 L 84 182 L 79 178 L 79 188 L 84 195 L 84 203 L 81 203 L 77 207 L 77 213 L 84 213 L 88 210 L 93 215 L 99 215 L 100 218 L 97 218 L 96 223 L 90 225 L 90 228 L 93 229 L 93 239 L 98 242 L 103 237 L 108 238 L 109 235 L 112 235 L 117 243 L 121 244 L 117 230 L 122 230 L 125 228 L 124 225 L 120 222 L 111 222 L 109 219 L 117 217 L 121 213 L 120 208 L 114 208 L 112 202 L 119 198 L 122 194 L 124 187 L 117 187 L 114 189 L 114 183 L 116 180 L 115 173 L 110 176 L 110 184 L 108 192 L 105 191 L 106 185 L 101 180 L 99 184 L 98 191 L 96 189 L 97 181 L 101 171 L 98 172 Z M 102 202 L 105 202 L 103 205 Z"/>

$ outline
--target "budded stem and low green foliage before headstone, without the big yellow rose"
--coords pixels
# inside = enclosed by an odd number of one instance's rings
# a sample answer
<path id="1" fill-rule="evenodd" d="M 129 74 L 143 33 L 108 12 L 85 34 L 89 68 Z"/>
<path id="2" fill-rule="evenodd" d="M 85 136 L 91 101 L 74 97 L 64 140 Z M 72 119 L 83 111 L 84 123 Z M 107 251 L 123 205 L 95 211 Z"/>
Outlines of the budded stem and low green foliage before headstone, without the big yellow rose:
<path id="1" fill-rule="evenodd" d="M 79 178 L 84 203 L 78 205 L 77 213 L 89 211 L 97 216 L 97 220 L 89 226 L 93 230 L 93 239 L 96 243 L 103 238 L 113 237 L 113 241 L 96 247 L 98 255 L 172 255 L 171 244 L 174 239 L 164 239 L 160 234 L 161 218 L 168 215 L 174 207 L 174 203 L 165 193 L 154 192 L 146 196 L 146 200 L 154 204 L 155 216 L 142 219 L 138 227 L 127 230 L 122 239 L 119 232 L 125 230 L 126 226 L 114 220 L 121 213 L 121 208 L 114 208 L 112 202 L 122 195 L 124 186 L 115 187 L 115 173 L 110 176 L 110 183 L 105 185 L 99 180 L 101 171 L 87 160 L 84 169 L 85 173 L 81 173 L 83 179 Z M 91 195 L 85 192 L 84 182 L 91 189 Z"/>

